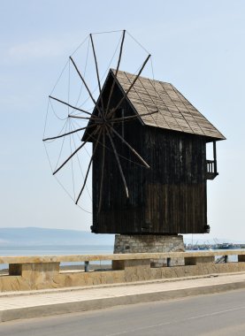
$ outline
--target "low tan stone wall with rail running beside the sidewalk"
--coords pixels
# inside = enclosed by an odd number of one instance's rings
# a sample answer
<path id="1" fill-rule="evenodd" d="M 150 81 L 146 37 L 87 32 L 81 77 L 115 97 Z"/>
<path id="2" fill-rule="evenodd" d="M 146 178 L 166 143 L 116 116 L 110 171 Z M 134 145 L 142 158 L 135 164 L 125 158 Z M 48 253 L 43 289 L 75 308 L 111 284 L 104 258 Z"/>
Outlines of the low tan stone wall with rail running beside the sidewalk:
<path id="1" fill-rule="evenodd" d="M 170 252 L 100 256 L 0 257 L 0 263 L 10 263 L 9 275 L 0 276 L 0 291 L 19 291 L 69 286 L 93 286 L 151 279 L 180 278 L 213 273 L 245 271 L 245 251 L 223 251 L 222 255 L 237 255 L 237 263 L 215 263 L 220 252 Z M 182 258 L 185 264 L 171 266 L 172 258 Z M 168 260 L 168 267 L 152 267 L 152 259 Z M 61 261 L 112 260 L 108 271 L 60 271 Z M 98 265 L 99 267 L 99 265 Z"/>

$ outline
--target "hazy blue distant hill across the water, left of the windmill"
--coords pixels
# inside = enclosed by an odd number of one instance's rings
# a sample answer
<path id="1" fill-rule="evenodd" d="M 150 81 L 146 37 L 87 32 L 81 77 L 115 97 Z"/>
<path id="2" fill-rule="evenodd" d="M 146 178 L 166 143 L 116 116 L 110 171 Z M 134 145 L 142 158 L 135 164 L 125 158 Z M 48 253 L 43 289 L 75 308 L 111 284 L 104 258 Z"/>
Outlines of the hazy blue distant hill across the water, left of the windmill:
<path id="1" fill-rule="evenodd" d="M 113 245 L 113 234 L 38 227 L 0 228 L 0 246 L 5 245 Z"/>

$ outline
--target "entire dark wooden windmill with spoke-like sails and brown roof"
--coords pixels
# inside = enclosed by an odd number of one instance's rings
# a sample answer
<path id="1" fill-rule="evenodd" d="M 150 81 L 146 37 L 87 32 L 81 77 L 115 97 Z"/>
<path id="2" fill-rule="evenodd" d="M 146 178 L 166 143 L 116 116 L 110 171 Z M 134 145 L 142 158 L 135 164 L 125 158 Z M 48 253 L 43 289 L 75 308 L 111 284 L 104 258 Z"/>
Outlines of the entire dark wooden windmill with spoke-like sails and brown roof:
<path id="1" fill-rule="evenodd" d="M 136 74 L 119 70 L 125 31 L 116 69 L 101 85 L 93 37 L 90 35 L 100 95 L 91 93 L 71 57 L 73 67 L 95 103 L 89 113 L 72 106 L 88 125 L 45 138 L 84 131 L 82 142 L 54 174 L 86 143 L 92 156 L 80 194 L 92 167 L 93 233 L 177 234 L 209 232 L 207 179 L 217 175 L 216 141 L 225 137 L 170 83 L 142 77 L 146 57 Z M 213 142 L 213 160 L 206 143 Z"/>

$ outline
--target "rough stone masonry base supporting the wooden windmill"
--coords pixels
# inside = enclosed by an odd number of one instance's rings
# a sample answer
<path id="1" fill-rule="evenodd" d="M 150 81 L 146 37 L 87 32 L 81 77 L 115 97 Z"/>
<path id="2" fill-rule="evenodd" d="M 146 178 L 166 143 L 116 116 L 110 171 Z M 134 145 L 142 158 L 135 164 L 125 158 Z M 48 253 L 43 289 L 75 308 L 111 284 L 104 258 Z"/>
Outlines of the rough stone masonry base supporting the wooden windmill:
<path id="1" fill-rule="evenodd" d="M 184 252 L 182 235 L 126 235 L 116 234 L 114 253 Z M 166 266 L 167 259 L 151 260 L 151 267 Z M 171 266 L 183 265 L 184 259 L 171 258 Z"/>

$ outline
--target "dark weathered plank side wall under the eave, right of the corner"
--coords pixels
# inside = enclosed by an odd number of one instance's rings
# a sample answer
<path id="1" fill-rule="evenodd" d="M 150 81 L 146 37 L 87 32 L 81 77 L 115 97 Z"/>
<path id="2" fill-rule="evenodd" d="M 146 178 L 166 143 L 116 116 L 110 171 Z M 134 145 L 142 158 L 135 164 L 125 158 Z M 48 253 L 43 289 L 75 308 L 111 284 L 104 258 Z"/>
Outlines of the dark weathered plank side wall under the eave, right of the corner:
<path id="1" fill-rule="evenodd" d="M 203 233 L 207 224 L 205 140 L 202 136 L 146 133 L 145 223 L 149 232 Z M 151 145 L 150 145 L 151 144 Z"/>

